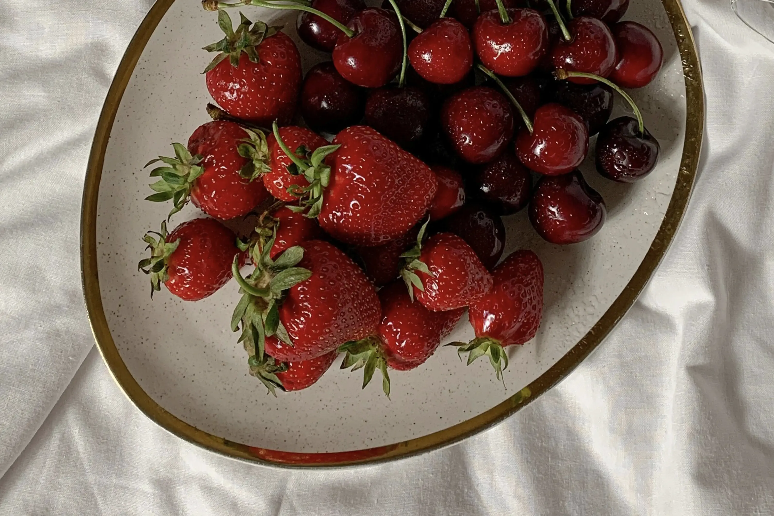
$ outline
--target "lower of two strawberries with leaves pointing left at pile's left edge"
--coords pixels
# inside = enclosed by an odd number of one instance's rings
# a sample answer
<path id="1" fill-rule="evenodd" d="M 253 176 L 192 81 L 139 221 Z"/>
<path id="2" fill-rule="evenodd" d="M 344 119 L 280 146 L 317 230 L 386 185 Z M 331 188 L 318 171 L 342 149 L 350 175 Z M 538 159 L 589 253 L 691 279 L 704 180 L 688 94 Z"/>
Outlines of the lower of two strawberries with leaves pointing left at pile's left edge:
<path id="1" fill-rule="evenodd" d="M 161 233 L 149 231 L 142 238 L 148 243 L 151 257 L 137 265 L 150 275 L 150 296 L 161 290 L 162 283 L 186 301 L 211 296 L 231 279 L 233 261 L 240 267 L 245 264 L 236 239 L 231 230 L 214 219 L 188 220 L 172 234 L 166 234 L 166 222 L 162 222 Z"/>

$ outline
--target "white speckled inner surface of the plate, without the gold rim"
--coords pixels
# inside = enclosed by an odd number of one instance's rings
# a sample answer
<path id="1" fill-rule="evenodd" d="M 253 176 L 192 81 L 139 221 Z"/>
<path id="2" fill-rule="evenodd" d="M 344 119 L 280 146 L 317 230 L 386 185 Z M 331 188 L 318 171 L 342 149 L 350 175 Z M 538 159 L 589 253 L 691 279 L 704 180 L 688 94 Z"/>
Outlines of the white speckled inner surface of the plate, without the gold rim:
<path id="1" fill-rule="evenodd" d="M 243 11 L 253 20 L 283 24 L 298 43 L 304 70 L 326 59 L 300 43 L 295 14 L 249 7 Z M 237 12 L 231 15 L 238 20 Z M 128 80 L 98 193 L 101 301 L 118 354 L 139 387 L 176 418 L 227 441 L 287 452 L 335 453 L 439 432 L 480 415 L 539 378 L 622 294 L 659 231 L 680 169 L 687 103 L 670 20 L 659 0 L 632 2 L 626 19 L 656 32 L 665 51 L 656 80 L 631 92 L 661 144 L 659 165 L 641 182 L 622 185 L 602 179 L 594 171 L 593 158 L 587 159 L 581 170 L 604 197 L 608 222 L 584 244 L 547 244 L 530 227 L 524 210 L 505 217 L 505 255 L 532 249 L 546 271 L 543 324 L 533 341 L 509 348 L 505 387 L 484 358 L 466 367 L 454 349 L 441 347 L 423 367 L 392 372 L 392 399 L 382 394 L 378 373 L 361 390 L 361 374 L 338 371 L 338 363 L 312 388 L 275 398 L 248 375 L 247 355 L 229 329 L 238 301 L 235 282 L 200 302 L 180 301 L 166 290 L 151 301 L 148 279 L 137 272 L 137 261 L 144 255 L 140 238 L 158 230 L 169 210 L 143 200 L 150 190 L 142 166 L 156 155 L 170 155 L 172 142 L 187 142 L 191 132 L 209 120 L 204 106 L 211 99 L 201 71 L 211 56 L 200 48 L 221 39 L 216 16 L 204 12 L 199 2 L 172 3 Z M 614 116 L 628 113 L 620 99 L 617 103 Z M 594 155 L 593 140 L 589 155 Z M 197 216 L 194 207 L 187 207 L 173 217 L 170 229 Z M 472 336 L 464 317 L 448 340 Z"/>

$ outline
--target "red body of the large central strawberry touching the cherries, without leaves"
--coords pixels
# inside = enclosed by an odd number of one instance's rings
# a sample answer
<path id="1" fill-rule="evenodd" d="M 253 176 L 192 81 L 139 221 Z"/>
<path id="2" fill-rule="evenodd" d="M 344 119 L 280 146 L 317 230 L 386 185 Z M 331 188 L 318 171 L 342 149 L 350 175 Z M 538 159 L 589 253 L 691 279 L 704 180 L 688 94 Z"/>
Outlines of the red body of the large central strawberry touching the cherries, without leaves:
<path id="1" fill-rule="evenodd" d="M 327 158 L 330 186 L 321 200 L 307 201 L 320 203 L 320 226 L 339 241 L 361 246 L 406 234 L 435 196 L 435 173 L 364 125 L 344 129 L 333 143 L 339 147 Z"/>

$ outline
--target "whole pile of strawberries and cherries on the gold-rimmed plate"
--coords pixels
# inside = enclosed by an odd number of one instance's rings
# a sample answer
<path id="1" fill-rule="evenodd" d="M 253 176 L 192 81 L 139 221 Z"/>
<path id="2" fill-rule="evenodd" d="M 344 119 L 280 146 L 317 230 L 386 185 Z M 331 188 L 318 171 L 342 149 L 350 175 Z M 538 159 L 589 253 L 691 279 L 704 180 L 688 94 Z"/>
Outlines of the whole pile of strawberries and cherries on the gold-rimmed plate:
<path id="1" fill-rule="evenodd" d="M 663 51 L 618 21 L 628 0 L 202 3 L 225 33 L 204 47 L 219 108 L 149 163 L 148 200 L 209 217 L 146 234 L 139 268 L 151 294 L 163 283 L 190 301 L 233 277 L 231 329 L 272 393 L 309 387 L 343 353 L 364 387 L 379 369 L 389 395 L 389 369 L 423 364 L 466 308 L 475 338 L 450 345 L 502 378 L 503 348 L 538 330 L 543 265 L 532 251 L 501 260 L 501 217 L 529 206 L 554 244 L 597 233 L 604 201 L 577 170 L 590 135 L 609 179 L 656 165 L 620 87 L 648 84 Z M 303 77 L 280 27 L 240 13 L 234 29 L 226 9 L 245 5 L 301 11 L 300 37 L 331 61 Z M 608 121 L 614 91 L 634 118 Z"/>

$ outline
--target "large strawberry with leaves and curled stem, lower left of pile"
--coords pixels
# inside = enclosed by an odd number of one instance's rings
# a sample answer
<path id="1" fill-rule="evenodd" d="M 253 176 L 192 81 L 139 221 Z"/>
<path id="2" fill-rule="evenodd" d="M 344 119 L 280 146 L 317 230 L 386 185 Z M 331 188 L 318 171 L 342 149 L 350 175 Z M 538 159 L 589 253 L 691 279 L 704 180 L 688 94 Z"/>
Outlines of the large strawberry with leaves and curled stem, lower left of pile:
<path id="1" fill-rule="evenodd" d="M 365 274 L 324 241 L 312 240 L 269 258 L 274 244 L 252 248 L 255 272 L 242 278 L 232 272 L 243 294 L 231 320 L 241 325 L 245 350 L 260 363 L 265 354 L 276 361 L 305 361 L 358 340 L 379 321 L 376 292 Z M 265 353 L 265 354 L 264 354 Z"/>

